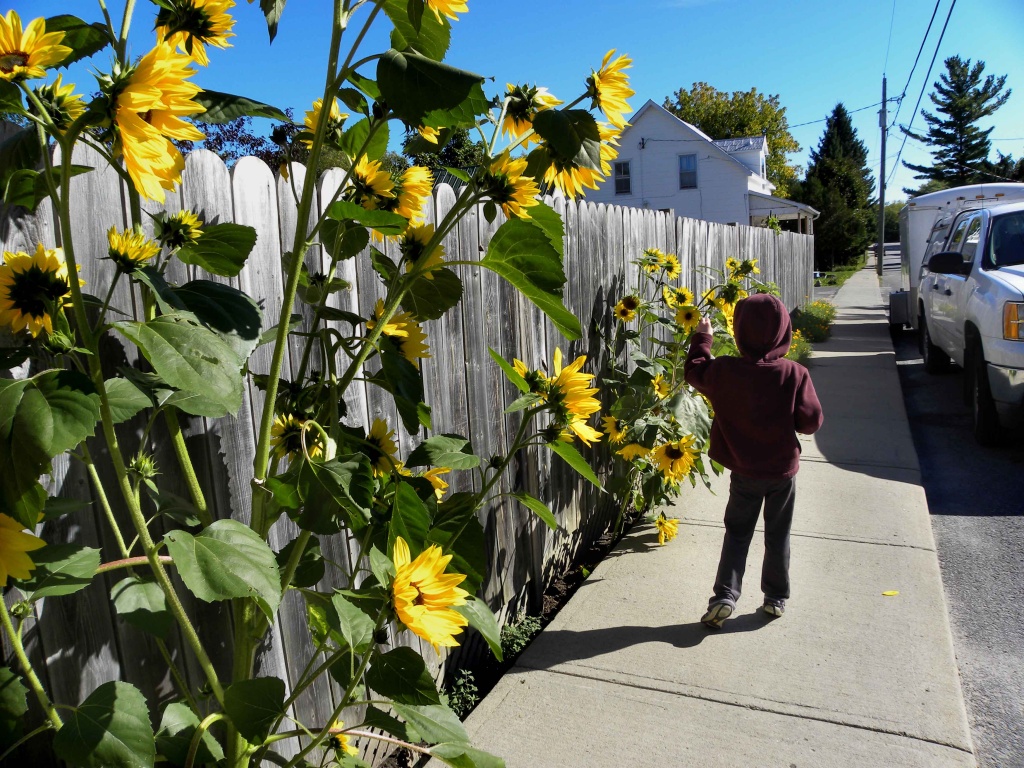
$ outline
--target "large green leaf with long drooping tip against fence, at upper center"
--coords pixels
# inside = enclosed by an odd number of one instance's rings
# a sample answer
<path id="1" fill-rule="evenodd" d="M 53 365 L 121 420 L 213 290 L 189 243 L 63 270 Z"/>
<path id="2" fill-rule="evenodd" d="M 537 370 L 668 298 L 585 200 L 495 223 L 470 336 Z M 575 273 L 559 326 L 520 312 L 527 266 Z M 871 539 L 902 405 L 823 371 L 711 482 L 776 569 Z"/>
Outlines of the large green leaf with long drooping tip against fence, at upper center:
<path id="1" fill-rule="evenodd" d="M 579 339 L 580 321 L 562 303 L 565 272 L 558 249 L 542 226 L 509 219 L 490 239 L 480 266 L 497 272 L 536 304 L 566 339 Z"/>

